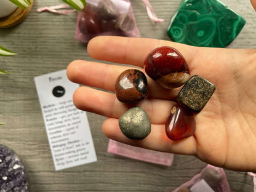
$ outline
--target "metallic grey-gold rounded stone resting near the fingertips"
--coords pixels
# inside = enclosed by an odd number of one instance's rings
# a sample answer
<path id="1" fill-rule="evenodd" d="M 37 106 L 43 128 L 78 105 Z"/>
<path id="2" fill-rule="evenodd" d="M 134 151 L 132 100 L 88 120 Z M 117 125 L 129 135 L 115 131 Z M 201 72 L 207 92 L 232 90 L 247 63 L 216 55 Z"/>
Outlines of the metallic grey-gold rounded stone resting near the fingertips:
<path id="1" fill-rule="evenodd" d="M 151 123 L 148 114 L 140 106 L 130 108 L 119 118 L 119 127 L 126 137 L 140 140 L 151 132 Z"/>

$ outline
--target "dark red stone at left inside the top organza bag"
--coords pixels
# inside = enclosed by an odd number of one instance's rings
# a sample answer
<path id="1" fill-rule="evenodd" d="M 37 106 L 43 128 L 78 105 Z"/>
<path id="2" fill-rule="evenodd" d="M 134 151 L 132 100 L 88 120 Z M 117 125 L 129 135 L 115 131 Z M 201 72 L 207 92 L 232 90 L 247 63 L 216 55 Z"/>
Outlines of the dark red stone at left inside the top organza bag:
<path id="1" fill-rule="evenodd" d="M 82 15 L 78 26 L 82 34 L 98 34 L 101 32 L 97 19 L 92 15 Z"/>

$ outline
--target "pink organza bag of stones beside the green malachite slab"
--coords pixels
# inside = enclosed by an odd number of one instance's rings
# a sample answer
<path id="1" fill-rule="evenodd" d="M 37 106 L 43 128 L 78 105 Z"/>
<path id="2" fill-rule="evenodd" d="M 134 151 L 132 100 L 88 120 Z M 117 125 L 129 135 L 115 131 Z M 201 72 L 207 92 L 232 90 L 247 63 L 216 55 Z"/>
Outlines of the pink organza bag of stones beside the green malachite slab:
<path id="1" fill-rule="evenodd" d="M 129 0 L 88 0 L 78 12 L 75 38 L 89 42 L 101 35 L 140 37 Z"/>

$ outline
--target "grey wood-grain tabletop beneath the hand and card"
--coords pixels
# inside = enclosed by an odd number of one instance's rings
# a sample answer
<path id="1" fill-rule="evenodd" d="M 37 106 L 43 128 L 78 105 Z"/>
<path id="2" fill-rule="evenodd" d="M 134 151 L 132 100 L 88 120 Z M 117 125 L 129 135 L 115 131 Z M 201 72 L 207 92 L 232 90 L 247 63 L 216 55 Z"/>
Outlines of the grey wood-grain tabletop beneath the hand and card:
<path id="1" fill-rule="evenodd" d="M 151 0 L 163 23 L 153 23 L 142 1 L 131 0 L 142 38 L 170 41 L 169 18 L 180 1 Z M 249 0 L 223 0 L 246 18 L 246 25 L 228 48 L 256 47 L 256 13 Z M 74 39 L 77 14 L 39 14 L 36 9 L 60 4 L 58 0 L 35 0 L 24 22 L 0 29 L 0 45 L 15 57 L 0 57 L 0 68 L 11 74 L 0 76 L 0 143 L 12 148 L 24 162 L 31 191 L 172 191 L 198 174 L 206 163 L 194 156 L 175 155 L 170 167 L 136 161 L 107 153 L 108 138 L 101 124 L 105 119 L 87 113 L 98 161 L 55 171 L 42 118 L 34 76 L 63 70 L 76 59 L 92 60 L 86 46 Z M 231 191 L 253 191 L 252 177 L 225 170 Z"/>

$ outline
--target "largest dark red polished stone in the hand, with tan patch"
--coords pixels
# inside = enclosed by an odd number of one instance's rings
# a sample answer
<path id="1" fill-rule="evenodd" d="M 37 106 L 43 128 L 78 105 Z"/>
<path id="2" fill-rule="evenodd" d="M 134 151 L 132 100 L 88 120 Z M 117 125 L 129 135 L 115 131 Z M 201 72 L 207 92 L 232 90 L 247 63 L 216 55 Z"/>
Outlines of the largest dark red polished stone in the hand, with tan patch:
<path id="1" fill-rule="evenodd" d="M 147 55 L 144 62 L 146 74 L 162 87 L 180 87 L 190 78 L 190 68 L 185 58 L 172 47 L 158 47 Z"/>

